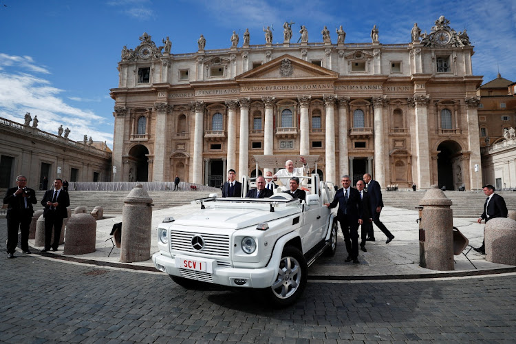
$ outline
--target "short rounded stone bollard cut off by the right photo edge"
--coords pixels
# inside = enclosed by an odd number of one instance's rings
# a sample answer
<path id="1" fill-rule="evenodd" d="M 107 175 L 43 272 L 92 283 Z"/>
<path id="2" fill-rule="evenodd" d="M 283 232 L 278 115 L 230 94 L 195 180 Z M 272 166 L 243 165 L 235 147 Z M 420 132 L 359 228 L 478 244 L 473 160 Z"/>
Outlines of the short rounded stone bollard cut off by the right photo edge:
<path id="1" fill-rule="evenodd" d="M 516 265 L 516 221 L 504 217 L 490 219 L 484 227 L 486 261 Z"/>

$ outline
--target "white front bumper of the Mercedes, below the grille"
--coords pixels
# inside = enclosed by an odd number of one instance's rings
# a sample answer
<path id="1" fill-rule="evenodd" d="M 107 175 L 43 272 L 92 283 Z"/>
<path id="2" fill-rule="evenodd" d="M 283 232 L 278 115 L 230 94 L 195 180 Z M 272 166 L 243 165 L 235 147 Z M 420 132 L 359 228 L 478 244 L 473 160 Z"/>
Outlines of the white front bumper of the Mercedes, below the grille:
<path id="1" fill-rule="evenodd" d="M 184 256 L 186 257 L 186 256 Z M 190 257 L 196 259 L 196 257 Z M 265 268 L 229 268 L 227 266 L 217 266 L 216 261 L 204 259 L 211 264 L 210 272 L 200 272 L 179 268 L 175 264 L 175 258 L 166 257 L 161 252 L 156 252 L 152 256 L 155 268 L 166 274 L 197 281 L 215 283 L 221 286 L 240 287 L 240 288 L 268 288 L 272 286 L 277 276 L 277 267 L 266 266 Z"/>

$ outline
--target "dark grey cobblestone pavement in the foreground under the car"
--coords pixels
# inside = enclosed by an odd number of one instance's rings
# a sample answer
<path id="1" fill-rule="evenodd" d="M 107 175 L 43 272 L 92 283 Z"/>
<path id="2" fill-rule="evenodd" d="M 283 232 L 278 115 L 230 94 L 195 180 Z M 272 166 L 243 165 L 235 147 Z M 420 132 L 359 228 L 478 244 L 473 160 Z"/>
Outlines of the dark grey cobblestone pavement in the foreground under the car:
<path id="1" fill-rule="evenodd" d="M 516 341 L 515 274 L 310 281 L 296 305 L 272 310 L 253 292 L 184 290 L 158 272 L 21 252 L 2 258 L 0 341 L 6 343 Z"/>

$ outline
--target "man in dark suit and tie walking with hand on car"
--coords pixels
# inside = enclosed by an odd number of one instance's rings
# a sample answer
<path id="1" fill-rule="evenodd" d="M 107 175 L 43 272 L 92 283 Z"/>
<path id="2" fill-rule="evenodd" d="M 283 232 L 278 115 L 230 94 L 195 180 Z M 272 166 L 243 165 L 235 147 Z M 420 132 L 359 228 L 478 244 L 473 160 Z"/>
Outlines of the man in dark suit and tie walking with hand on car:
<path id="1" fill-rule="evenodd" d="M 347 258 L 358 264 L 358 226 L 362 222 L 362 200 L 358 190 L 350 187 L 349 175 L 342 177 L 342 189 L 338 189 L 332 203 L 325 203 L 328 208 L 335 208 L 338 204 L 337 219 L 341 223 L 341 230 L 346 244 Z"/>

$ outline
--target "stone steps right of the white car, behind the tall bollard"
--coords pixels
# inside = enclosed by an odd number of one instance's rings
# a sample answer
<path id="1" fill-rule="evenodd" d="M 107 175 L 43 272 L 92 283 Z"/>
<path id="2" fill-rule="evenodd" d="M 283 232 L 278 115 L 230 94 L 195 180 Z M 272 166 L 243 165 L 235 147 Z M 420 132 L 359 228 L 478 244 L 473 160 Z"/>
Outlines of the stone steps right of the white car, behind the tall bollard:
<path id="1" fill-rule="evenodd" d="M 516 210 L 516 192 L 504 191 L 497 192 L 504 197 L 508 210 Z M 486 195 L 482 192 L 474 191 L 444 191 L 452 203 L 453 217 L 480 217 L 484 211 Z M 419 202 L 424 197 L 424 191 L 382 191 L 383 203 L 386 206 L 415 210 Z"/>

